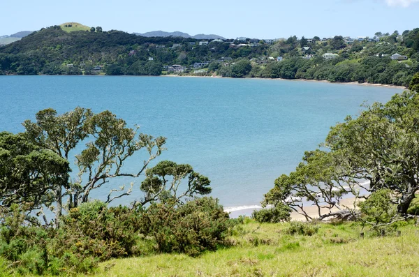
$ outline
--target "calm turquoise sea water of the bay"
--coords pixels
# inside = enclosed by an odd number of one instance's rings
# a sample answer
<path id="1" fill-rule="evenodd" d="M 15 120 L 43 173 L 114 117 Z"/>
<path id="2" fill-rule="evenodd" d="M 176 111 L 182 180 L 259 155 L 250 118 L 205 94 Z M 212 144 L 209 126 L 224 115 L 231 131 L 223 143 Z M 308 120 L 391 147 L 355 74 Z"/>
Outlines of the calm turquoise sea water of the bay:
<path id="1" fill-rule="evenodd" d="M 0 130 L 23 130 L 38 110 L 110 110 L 142 133 L 168 138 L 160 160 L 189 163 L 225 207 L 257 205 L 274 179 L 316 149 L 330 126 L 401 89 L 284 80 L 191 77 L 0 76 Z M 128 161 L 136 168 L 139 158 Z M 127 170 L 128 171 L 128 170 Z M 125 183 L 133 181 L 123 180 Z M 92 197 L 105 197 L 107 187 Z M 140 179 L 128 203 L 139 197 Z M 137 188 L 137 189 L 135 189 Z"/>

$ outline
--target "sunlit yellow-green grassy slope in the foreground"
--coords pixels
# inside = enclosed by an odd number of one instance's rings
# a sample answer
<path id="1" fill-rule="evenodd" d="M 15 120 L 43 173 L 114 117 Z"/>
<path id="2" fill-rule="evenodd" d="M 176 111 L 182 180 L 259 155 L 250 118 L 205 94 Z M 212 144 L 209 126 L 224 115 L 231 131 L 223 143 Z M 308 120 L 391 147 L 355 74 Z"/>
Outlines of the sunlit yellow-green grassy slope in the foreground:
<path id="1" fill-rule="evenodd" d="M 321 224 L 311 237 L 285 234 L 288 223 L 251 220 L 230 237 L 230 248 L 193 258 L 154 255 L 110 260 L 93 276 L 419 276 L 419 228 L 373 237 L 361 226 Z"/>

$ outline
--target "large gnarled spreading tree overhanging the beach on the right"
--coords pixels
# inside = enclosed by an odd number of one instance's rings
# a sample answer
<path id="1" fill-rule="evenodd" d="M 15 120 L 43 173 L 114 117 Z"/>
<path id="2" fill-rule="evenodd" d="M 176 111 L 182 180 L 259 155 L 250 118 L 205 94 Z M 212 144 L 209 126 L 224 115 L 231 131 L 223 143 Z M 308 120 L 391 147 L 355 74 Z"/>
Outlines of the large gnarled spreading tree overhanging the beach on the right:
<path id="1" fill-rule="evenodd" d="M 325 218 L 333 213 L 322 213 L 321 207 L 338 207 L 344 195 L 368 198 L 387 189 L 398 216 L 406 215 L 419 189 L 418 123 L 416 92 L 366 106 L 359 117 L 332 127 L 323 144 L 327 151 L 307 152 L 295 172 L 279 177 L 265 204 L 286 203 L 306 217 L 304 208 L 314 204 L 318 217 Z"/>

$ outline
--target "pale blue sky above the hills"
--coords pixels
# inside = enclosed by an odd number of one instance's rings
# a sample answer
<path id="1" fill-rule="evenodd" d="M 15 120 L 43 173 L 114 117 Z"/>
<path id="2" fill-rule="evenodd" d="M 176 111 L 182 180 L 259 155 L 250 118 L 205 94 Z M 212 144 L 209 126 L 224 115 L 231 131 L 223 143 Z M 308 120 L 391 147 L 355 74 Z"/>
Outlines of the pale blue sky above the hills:
<path id="1" fill-rule="evenodd" d="M 374 36 L 419 27 L 418 14 L 419 0 L 2 0 L 0 36 L 63 22 L 226 38 Z"/>

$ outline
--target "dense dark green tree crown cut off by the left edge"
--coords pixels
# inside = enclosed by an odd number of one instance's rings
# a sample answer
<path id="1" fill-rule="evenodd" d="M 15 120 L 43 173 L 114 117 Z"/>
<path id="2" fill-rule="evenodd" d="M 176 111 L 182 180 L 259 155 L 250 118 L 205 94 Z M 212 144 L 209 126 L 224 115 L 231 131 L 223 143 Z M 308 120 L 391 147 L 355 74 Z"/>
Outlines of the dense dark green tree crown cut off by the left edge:
<path id="1" fill-rule="evenodd" d="M 0 133 L 0 206 L 51 204 L 61 186 L 68 188 L 68 161 L 31 144 L 24 134 Z M 29 207 L 27 207 L 29 209 Z"/>

